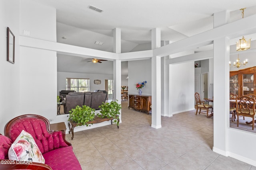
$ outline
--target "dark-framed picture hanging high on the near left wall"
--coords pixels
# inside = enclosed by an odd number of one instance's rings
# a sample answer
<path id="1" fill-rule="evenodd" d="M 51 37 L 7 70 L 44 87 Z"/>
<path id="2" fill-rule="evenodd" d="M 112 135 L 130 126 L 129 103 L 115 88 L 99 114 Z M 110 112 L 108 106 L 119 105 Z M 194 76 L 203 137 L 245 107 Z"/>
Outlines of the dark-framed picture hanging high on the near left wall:
<path id="1" fill-rule="evenodd" d="M 7 61 L 14 64 L 14 48 L 15 47 L 15 36 L 7 27 Z"/>

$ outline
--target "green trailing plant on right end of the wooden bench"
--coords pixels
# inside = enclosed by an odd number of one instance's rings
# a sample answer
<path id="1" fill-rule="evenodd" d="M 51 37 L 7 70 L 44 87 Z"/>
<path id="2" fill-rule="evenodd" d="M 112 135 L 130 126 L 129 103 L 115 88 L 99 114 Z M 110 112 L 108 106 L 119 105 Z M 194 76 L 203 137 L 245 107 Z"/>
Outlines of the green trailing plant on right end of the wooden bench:
<path id="1" fill-rule="evenodd" d="M 116 100 L 118 101 L 118 100 Z M 103 102 L 102 102 L 103 103 Z M 100 118 L 116 118 L 120 115 L 121 110 L 121 104 L 118 104 L 117 102 L 110 102 L 110 103 L 103 103 L 99 106 L 100 113 L 97 113 L 97 116 Z M 116 123 L 117 126 L 119 126 L 119 122 L 117 119 L 114 119 L 112 123 Z"/>

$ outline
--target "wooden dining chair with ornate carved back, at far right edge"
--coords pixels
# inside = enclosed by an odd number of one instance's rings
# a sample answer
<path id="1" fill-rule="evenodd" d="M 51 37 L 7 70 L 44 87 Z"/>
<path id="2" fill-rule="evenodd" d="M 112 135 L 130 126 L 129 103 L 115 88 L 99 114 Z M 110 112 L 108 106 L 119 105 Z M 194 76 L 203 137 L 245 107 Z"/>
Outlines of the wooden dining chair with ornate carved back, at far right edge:
<path id="1" fill-rule="evenodd" d="M 245 116 L 252 117 L 252 130 L 254 130 L 255 120 L 255 99 L 249 96 L 240 96 L 236 98 L 236 115 L 237 117 Z M 246 124 L 250 124 L 246 121 Z M 239 126 L 239 119 L 237 119 L 237 127 Z"/>

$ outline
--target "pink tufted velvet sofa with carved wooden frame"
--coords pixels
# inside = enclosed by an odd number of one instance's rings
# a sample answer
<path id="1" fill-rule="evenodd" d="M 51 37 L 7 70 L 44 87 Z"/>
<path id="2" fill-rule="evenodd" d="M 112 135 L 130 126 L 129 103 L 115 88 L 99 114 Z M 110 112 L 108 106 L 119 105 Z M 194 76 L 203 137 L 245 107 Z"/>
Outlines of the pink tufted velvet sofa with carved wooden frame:
<path id="1" fill-rule="evenodd" d="M 82 170 L 71 143 L 65 139 L 66 134 L 62 131 L 50 131 L 48 119 L 32 114 L 15 117 L 5 125 L 5 136 L 0 135 L 1 160 L 8 160 L 8 150 L 22 130 L 32 135 L 42 152 L 45 164 L 50 168 L 53 170 Z M 40 165 L 40 163 L 36 164 Z M 2 168 L 0 164 L 0 169 Z"/>

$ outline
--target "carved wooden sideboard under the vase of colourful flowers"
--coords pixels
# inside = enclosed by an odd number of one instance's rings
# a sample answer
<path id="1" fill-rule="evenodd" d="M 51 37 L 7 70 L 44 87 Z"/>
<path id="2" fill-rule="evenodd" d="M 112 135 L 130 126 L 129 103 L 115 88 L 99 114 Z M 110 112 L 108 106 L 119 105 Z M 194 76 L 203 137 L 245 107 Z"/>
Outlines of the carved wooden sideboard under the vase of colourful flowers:
<path id="1" fill-rule="evenodd" d="M 149 114 L 151 110 L 151 96 L 148 95 L 138 95 L 129 94 L 129 106 L 128 108 L 133 108 L 139 111 L 146 111 Z"/>

